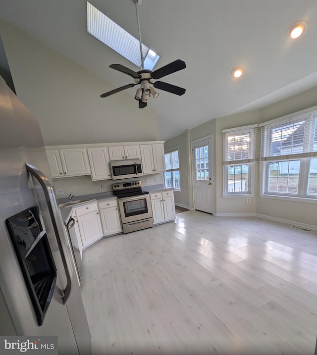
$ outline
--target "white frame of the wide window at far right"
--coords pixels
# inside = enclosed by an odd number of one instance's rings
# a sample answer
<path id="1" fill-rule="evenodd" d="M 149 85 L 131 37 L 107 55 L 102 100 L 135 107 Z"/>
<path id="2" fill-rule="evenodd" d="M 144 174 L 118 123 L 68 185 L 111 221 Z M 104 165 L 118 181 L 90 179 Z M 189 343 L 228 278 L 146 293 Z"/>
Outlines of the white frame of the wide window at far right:
<path id="1" fill-rule="evenodd" d="M 314 132 L 311 129 L 312 118 L 317 115 L 317 106 L 294 112 L 290 115 L 283 116 L 268 122 L 264 122 L 260 125 L 262 128 L 262 138 L 261 138 L 261 181 L 260 181 L 260 197 L 269 199 L 278 199 L 285 201 L 305 201 L 308 203 L 316 203 L 317 195 L 308 195 L 308 176 L 310 169 L 310 161 L 312 158 L 317 158 L 317 152 L 313 152 L 314 142 Z M 288 123 L 305 121 L 309 124 L 305 124 L 304 138 L 303 138 L 303 151 L 306 152 L 294 153 L 289 155 L 275 155 L 270 156 L 268 153 L 269 137 L 267 132 L 271 127 L 278 127 L 287 125 Z M 308 128 L 307 128 L 308 127 Z M 300 161 L 299 167 L 299 178 L 298 178 L 298 192 L 296 194 L 284 193 L 284 192 L 272 192 L 268 191 L 268 177 L 269 177 L 269 164 L 271 162 L 282 162 L 282 161 Z"/>

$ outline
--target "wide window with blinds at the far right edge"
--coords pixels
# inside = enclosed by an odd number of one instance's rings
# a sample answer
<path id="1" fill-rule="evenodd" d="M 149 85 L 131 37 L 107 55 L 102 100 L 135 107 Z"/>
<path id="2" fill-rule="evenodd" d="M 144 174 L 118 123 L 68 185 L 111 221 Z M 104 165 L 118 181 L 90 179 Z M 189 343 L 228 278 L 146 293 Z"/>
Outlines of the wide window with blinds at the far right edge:
<path id="1" fill-rule="evenodd" d="M 317 198 L 317 111 L 264 123 L 261 160 L 262 195 Z"/>

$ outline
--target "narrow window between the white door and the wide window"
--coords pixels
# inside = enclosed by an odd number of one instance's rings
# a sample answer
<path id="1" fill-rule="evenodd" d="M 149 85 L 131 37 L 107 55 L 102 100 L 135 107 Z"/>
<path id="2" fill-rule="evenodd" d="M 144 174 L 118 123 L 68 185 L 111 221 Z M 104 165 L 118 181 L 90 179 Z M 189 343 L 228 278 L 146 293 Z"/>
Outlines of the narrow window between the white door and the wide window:
<path id="1" fill-rule="evenodd" d="M 258 125 L 223 130 L 223 197 L 254 194 Z"/>

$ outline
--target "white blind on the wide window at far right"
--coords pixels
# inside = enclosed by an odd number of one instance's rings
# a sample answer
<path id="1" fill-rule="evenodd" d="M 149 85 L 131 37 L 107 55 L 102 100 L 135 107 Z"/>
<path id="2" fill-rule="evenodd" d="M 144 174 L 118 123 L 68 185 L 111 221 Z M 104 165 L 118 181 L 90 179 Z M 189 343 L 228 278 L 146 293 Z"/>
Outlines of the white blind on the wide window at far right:
<path id="1" fill-rule="evenodd" d="M 261 127 L 261 160 L 317 156 L 317 112 Z"/>

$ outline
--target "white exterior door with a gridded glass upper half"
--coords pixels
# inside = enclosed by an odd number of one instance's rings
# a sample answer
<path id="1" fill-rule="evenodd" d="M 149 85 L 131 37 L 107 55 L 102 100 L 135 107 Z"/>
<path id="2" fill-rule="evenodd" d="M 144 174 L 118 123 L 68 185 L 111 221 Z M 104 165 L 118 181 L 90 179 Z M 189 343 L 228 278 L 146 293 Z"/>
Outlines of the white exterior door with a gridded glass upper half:
<path id="1" fill-rule="evenodd" d="M 194 208 L 208 213 L 213 213 L 211 143 L 211 137 L 192 142 Z"/>

